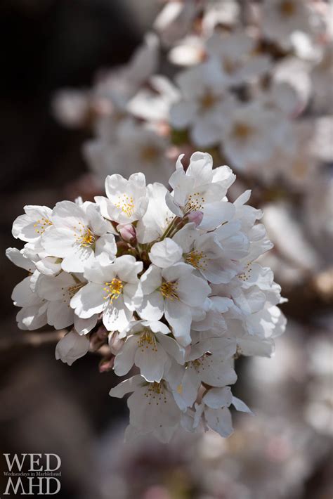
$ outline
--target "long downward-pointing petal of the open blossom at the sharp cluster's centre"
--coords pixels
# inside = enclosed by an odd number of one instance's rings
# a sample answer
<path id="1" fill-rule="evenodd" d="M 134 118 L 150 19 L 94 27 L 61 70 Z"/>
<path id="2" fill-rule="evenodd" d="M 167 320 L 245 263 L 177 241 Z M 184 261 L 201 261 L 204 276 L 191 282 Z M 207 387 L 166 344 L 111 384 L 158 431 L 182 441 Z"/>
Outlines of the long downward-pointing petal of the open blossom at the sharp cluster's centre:
<path id="1" fill-rule="evenodd" d="M 190 326 L 192 323 L 192 313 L 190 307 L 178 301 L 171 302 L 166 299 L 164 303 L 164 313 L 166 320 L 171 325 L 174 337 L 181 346 L 188 346 L 191 342 Z"/>

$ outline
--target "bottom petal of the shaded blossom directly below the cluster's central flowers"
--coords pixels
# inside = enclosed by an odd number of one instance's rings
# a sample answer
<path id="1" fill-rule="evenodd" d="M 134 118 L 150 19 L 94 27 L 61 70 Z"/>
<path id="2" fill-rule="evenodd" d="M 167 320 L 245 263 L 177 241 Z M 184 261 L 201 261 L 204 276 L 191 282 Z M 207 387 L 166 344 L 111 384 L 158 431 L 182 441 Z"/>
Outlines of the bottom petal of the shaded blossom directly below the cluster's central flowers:
<path id="1" fill-rule="evenodd" d="M 140 368 L 141 376 L 149 382 L 159 382 L 164 373 L 164 364 L 168 356 L 165 351 L 158 346 L 151 348 L 143 344 L 138 346 L 135 354 L 135 364 Z"/>

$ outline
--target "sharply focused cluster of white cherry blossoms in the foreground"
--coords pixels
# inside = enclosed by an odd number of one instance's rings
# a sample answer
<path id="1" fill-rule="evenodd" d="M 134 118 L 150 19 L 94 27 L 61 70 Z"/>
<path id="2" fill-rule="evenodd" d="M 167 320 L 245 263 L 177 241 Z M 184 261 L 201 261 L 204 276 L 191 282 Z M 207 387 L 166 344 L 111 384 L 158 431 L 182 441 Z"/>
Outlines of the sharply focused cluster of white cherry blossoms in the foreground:
<path id="1" fill-rule="evenodd" d="M 255 260 L 270 249 L 262 213 L 246 191 L 226 197 L 235 175 L 194 153 L 178 157 L 169 179 L 146 185 L 142 173 L 107 176 L 106 197 L 27 206 L 13 223 L 25 242 L 7 256 L 29 271 L 13 290 L 18 325 L 71 328 L 55 356 L 72 364 L 108 339 L 112 388 L 128 398 L 127 438 L 176 429 L 233 432 L 230 406 L 237 356 L 270 356 L 285 328 L 280 286 Z"/>

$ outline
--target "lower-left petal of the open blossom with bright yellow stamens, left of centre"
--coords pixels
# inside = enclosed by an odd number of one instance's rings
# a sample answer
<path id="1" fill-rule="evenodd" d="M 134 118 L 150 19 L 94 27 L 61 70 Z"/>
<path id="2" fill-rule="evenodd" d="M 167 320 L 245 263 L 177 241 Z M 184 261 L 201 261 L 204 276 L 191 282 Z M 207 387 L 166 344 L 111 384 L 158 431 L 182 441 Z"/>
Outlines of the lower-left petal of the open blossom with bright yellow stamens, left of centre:
<path id="1" fill-rule="evenodd" d="M 77 316 L 86 319 L 103 311 L 107 302 L 105 296 L 103 285 L 88 283 L 74 294 L 70 306 L 75 309 Z"/>

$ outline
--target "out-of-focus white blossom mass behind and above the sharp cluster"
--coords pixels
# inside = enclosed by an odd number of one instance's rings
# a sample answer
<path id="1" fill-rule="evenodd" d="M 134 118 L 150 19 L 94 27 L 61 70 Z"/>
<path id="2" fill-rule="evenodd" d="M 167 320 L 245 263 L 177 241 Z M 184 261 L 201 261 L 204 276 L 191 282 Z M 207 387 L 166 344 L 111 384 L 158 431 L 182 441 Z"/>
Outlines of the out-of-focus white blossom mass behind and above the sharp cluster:
<path id="1" fill-rule="evenodd" d="M 332 263 L 332 4 L 160 5 L 127 65 L 53 100 L 59 122 L 93 131 L 83 153 L 96 190 L 111 173 L 166 182 L 180 153 L 188 161 L 207 150 L 263 208 L 275 245 L 267 264 L 279 281 L 327 299 L 328 277 L 318 276 Z M 240 189 L 230 190 L 233 200 Z"/>

